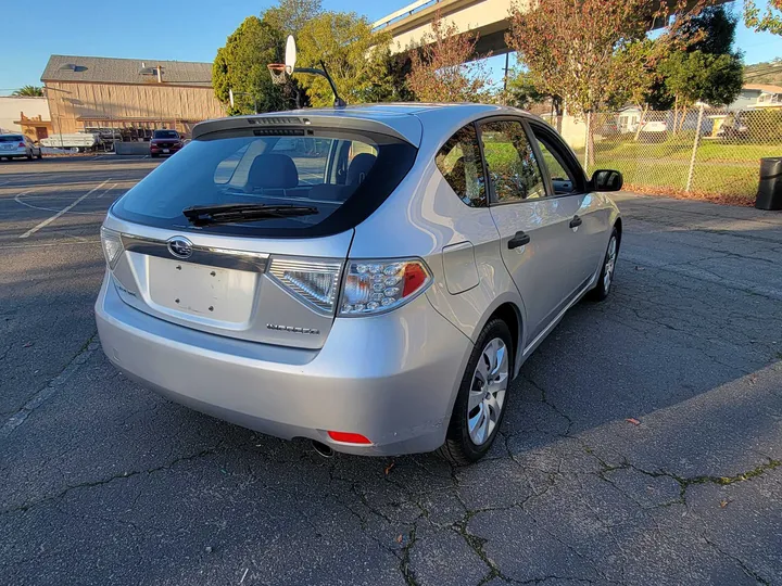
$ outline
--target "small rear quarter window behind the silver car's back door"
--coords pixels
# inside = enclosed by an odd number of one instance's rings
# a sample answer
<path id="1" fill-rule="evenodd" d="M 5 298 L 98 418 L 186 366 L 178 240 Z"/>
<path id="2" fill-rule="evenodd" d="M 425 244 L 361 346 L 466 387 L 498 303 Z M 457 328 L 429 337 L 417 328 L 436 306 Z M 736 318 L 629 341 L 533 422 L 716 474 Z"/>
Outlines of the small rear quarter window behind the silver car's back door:
<path id="1" fill-rule="evenodd" d="M 440 173 L 456 195 L 469 206 L 485 207 L 485 181 L 478 136 L 472 125 L 451 137 L 436 157 Z"/>

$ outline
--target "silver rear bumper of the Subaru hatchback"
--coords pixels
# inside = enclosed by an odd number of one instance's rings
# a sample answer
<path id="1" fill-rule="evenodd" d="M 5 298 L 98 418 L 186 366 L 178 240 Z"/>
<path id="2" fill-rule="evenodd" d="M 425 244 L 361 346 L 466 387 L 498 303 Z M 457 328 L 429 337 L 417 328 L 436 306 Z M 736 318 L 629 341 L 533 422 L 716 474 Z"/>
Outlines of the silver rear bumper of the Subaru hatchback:
<path id="1" fill-rule="evenodd" d="M 320 351 L 160 320 L 125 304 L 110 277 L 96 318 L 109 359 L 143 386 L 262 433 L 361 455 L 442 445 L 471 349 L 426 295 L 383 316 L 336 319 Z M 329 430 L 360 433 L 373 444 L 333 442 Z"/>

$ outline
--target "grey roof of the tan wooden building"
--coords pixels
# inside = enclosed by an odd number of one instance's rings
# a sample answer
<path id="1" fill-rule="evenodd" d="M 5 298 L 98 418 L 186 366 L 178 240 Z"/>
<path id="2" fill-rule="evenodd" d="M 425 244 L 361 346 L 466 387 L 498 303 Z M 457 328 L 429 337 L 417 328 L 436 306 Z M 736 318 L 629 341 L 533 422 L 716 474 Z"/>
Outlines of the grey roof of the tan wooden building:
<path id="1" fill-rule="evenodd" d="M 189 61 L 155 61 L 141 59 L 91 58 L 52 55 L 41 81 L 83 81 L 87 84 L 157 84 L 157 76 L 141 74 L 147 68 L 161 67 L 163 84 L 173 86 L 212 86 L 212 64 Z"/>

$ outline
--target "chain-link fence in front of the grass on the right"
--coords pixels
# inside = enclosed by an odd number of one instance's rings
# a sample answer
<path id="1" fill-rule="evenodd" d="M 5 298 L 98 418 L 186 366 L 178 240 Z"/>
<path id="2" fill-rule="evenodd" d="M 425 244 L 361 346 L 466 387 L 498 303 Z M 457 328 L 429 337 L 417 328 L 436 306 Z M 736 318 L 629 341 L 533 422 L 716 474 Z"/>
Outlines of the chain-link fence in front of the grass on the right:
<path id="1" fill-rule="evenodd" d="M 782 156 L 782 109 L 627 107 L 563 132 L 589 173 L 618 169 L 628 189 L 754 201 L 760 158 Z"/>

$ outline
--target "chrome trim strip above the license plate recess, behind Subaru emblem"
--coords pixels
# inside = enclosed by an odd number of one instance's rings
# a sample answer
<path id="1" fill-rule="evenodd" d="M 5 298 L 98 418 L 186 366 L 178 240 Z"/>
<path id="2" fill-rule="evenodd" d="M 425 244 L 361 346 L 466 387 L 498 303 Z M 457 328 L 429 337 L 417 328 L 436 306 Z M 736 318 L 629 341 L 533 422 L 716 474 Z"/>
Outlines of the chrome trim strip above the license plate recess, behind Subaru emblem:
<path id="1" fill-rule="evenodd" d="M 207 265 L 211 267 L 247 270 L 250 272 L 265 272 L 268 266 L 269 255 L 266 253 L 198 246 L 193 244 L 192 255 L 190 257 L 177 258 L 168 251 L 167 240 L 156 240 L 126 233 L 122 233 L 121 238 L 123 247 L 126 251 L 149 256 L 159 256 L 178 263 L 192 263 L 194 265 Z"/>

